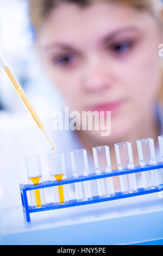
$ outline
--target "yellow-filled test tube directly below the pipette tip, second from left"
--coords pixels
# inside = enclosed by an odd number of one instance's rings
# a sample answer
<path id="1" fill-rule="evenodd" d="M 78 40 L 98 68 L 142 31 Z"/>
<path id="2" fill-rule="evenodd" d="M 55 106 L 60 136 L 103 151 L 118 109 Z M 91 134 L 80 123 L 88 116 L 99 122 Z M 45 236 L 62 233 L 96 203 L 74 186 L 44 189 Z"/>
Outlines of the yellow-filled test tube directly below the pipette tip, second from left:
<path id="1" fill-rule="evenodd" d="M 65 156 L 63 153 L 48 154 L 49 167 L 52 181 L 66 179 Z M 65 204 L 68 202 L 67 185 L 52 187 L 55 204 Z"/>

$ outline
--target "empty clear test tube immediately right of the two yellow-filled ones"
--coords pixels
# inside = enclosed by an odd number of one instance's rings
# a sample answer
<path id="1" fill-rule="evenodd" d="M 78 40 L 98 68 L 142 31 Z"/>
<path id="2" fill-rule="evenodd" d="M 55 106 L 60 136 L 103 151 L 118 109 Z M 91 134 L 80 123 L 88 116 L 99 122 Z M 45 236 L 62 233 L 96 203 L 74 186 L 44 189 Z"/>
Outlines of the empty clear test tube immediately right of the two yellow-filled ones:
<path id="1" fill-rule="evenodd" d="M 71 163 L 73 176 L 78 178 L 79 176 L 89 175 L 89 167 L 87 162 L 87 153 L 85 149 L 72 150 L 71 154 Z M 77 200 L 89 200 L 91 199 L 91 187 L 90 181 L 76 182 L 76 197 Z"/>

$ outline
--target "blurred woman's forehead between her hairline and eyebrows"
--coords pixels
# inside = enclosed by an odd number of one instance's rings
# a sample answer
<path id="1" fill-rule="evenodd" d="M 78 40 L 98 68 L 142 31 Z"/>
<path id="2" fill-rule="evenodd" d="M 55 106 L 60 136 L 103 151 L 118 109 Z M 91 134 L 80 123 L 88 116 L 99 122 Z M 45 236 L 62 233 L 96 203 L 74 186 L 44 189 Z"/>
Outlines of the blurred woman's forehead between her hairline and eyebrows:
<path id="1" fill-rule="evenodd" d="M 54 41 L 74 43 L 89 41 L 123 29 L 143 29 L 152 26 L 153 18 L 147 12 L 112 3 L 95 3 L 85 8 L 76 4 L 60 4 L 45 20 L 40 39 L 43 45 Z M 42 36 L 41 36 L 42 35 Z M 51 41 L 52 40 L 52 41 Z"/>

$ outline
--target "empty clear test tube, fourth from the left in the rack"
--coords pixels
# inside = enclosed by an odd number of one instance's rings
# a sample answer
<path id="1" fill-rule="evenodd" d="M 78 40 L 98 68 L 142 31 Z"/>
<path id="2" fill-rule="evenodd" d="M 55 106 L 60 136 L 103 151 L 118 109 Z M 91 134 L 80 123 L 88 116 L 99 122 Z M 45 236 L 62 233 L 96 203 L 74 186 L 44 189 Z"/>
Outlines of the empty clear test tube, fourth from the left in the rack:
<path id="1" fill-rule="evenodd" d="M 110 153 L 108 146 L 94 147 L 93 158 L 95 162 L 96 174 L 102 172 L 111 173 Z M 110 197 L 115 193 L 112 177 L 97 179 L 98 193 L 101 197 Z"/>

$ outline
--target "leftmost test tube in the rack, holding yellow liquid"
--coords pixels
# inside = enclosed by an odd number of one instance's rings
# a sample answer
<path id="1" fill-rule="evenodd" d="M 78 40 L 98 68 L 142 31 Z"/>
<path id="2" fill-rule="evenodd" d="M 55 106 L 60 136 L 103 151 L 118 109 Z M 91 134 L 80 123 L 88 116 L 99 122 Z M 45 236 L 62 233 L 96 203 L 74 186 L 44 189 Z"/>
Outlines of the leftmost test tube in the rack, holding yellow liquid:
<path id="1" fill-rule="evenodd" d="M 28 183 L 32 185 L 38 185 L 42 181 L 42 170 L 40 156 L 29 156 L 25 158 Z M 40 208 L 45 204 L 45 197 L 42 189 L 31 190 L 30 200 L 32 206 Z"/>

